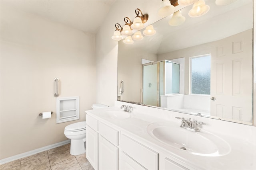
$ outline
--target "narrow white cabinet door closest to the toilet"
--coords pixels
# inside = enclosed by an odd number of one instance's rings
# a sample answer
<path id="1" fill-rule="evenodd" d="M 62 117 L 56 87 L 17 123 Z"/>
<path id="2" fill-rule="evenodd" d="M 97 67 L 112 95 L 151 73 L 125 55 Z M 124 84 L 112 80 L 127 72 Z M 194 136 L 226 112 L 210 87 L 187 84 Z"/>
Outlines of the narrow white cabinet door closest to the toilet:
<path id="1" fill-rule="evenodd" d="M 86 125 L 86 158 L 98 170 L 98 132 Z"/>

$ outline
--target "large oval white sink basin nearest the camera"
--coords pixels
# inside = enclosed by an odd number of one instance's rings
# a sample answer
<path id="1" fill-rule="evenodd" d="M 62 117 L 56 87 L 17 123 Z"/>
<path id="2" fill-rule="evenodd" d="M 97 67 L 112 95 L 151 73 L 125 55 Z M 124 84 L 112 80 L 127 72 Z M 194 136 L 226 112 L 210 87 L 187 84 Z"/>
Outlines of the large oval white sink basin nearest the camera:
<path id="1" fill-rule="evenodd" d="M 148 134 L 164 146 L 183 150 L 201 156 L 223 156 L 231 150 L 230 145 L 220 137 L 203 131 L 190 131 L 171 123 L 152 123 Z"/>

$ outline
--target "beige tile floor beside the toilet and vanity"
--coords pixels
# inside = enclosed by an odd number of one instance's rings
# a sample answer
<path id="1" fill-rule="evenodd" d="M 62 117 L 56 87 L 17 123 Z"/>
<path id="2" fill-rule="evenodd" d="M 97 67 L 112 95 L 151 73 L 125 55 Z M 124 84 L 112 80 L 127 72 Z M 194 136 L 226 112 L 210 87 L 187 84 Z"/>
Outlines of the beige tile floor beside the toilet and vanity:
<path id="1" fill-rule="evenodd" d="M 70 144 L 0 165 L 0 170 L 94 170 L 86 154 L 73 156 Z"/>

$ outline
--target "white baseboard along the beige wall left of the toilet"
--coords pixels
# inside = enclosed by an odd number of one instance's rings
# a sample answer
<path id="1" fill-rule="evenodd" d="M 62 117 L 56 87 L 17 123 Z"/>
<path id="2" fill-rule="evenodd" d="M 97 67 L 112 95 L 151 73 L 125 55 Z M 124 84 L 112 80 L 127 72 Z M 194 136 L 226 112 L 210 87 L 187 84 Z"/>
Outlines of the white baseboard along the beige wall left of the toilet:
<path id="1" fill-rule="evenodd" d="M 33 155 L 33 154 L 37 154 L 37 153 L 40 153 L 40 152 L 43 152 L 43 151 L 46 151 L 46 150 L 49 150 L 49 149 L 53 149 L 53 148 L 56 148 L 56 147 L 60 147 L 62 145 L 66 145 L 70 143 L 70 139 L 66 140 L 66 141 L 62 141 L 62 142 L 59 142 L 59 143 L 55 143 L 55 144 L 52 144 L 52 145 L 48 145 L 46 147 L 42 147 L 42 148 L 38 148 L 38 149 L 35 149 L 35 150 L 30 150 L 28 152 L 24 152 L 22 154 L 16 154 L 14 156 L 11 156 L 9 158 L 4 158 L 4 159 L 1 159 L 0 160 L 0 165 L 2 164 L 6 164 L 8 162 L 12 162 L 14 160 L 18 160 L 20 158 L 25 158 L 27 156 L 30 156 L 30 155 Z"/>

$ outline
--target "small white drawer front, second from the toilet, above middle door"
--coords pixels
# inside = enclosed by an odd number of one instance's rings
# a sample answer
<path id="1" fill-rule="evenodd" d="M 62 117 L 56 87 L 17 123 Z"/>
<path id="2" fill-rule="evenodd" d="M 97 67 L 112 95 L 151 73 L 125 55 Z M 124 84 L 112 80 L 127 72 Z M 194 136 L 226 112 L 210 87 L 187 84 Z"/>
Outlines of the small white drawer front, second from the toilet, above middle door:
<path id="1" fill-rule="evenodd" d="M 119 131 L 99 122 L 99 133 L 114 145 L 119 145 Z"/>

